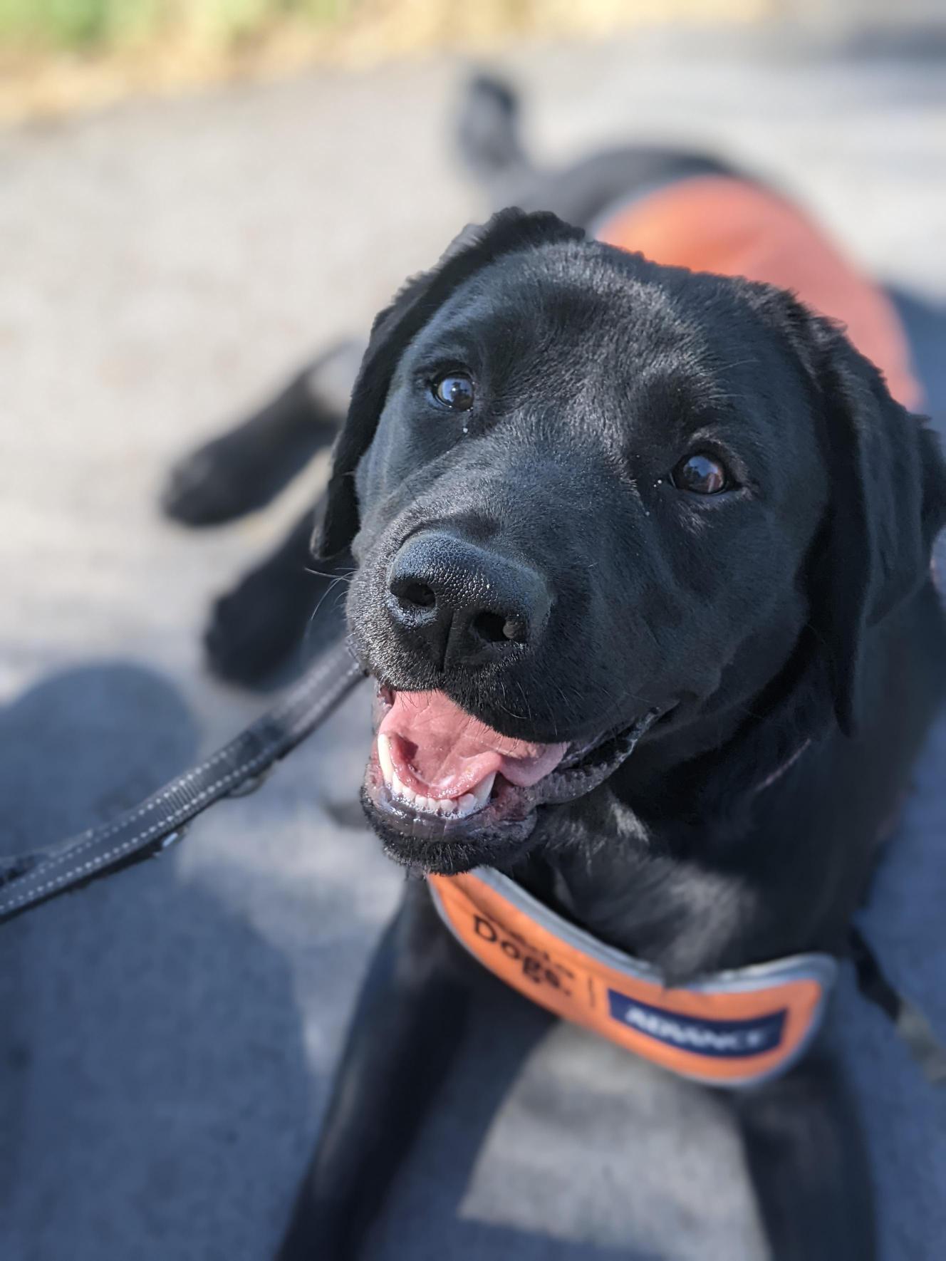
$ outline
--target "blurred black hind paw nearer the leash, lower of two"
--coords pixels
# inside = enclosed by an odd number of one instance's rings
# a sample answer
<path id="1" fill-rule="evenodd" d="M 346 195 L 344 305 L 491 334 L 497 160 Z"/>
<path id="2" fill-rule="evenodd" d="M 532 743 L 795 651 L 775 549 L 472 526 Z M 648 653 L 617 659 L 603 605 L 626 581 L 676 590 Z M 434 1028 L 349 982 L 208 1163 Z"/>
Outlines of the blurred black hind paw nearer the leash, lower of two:
<path id="1" fill-rule="evenodd" d="M 325 624 L 339 613 L 354 562 L 348 552 L 313 560 L 312 532 L 323 509 L 324 496 L 272 555 L 213 605 L 204 644 L 222 678 L 260 682 L 299 648 L 317 610 Z"/>

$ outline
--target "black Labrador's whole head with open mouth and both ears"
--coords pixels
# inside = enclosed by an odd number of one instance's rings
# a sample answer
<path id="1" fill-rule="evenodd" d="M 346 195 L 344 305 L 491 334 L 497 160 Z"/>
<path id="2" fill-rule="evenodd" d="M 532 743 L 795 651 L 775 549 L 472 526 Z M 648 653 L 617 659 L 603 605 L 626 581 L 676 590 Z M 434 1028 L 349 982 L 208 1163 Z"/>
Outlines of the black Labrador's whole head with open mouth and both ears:
<path id="1" fill-rule="evenodd" d="M 788 295 L 507 211 L 375 323 L 323 555 L 352 546 L 388 852 L 503 863 L 647 739 L 748 706 L 811 636 L 843 730 L 923 580 L 931 435 Z"/>

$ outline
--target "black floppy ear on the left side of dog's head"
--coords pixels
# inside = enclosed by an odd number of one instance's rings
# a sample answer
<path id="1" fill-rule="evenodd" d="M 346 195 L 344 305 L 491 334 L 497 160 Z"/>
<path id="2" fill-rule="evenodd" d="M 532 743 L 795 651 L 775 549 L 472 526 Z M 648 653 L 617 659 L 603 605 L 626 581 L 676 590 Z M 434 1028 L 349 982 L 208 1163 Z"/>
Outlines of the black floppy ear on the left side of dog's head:
<path id="1" fill-rule="evenodd" d="M 376 318 L 368 348 L 352 390 L 348 416 L 332 454 L 332 477 L 322 530 L 313 550 L 336 556 L 358 530 L 354 469 L 375 436 L 391 377 L 404 351 L 450 294 L 502 255 L 559 241 L 581 241 L 584 232 L 550 213 L 499 211 L 482 227 L 469 224 L 450 243 L 433 271 L 409 280 Z"/>

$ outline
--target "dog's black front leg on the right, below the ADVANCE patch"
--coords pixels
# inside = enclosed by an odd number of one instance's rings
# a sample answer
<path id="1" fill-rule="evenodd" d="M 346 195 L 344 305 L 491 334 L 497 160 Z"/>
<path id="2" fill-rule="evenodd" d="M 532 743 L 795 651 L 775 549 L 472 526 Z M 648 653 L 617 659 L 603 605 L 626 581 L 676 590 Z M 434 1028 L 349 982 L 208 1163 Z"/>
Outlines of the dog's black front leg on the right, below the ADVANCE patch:
<path id="1" fill-rule="evenodd" d="M 867 1150 L 834 1061 L 815 1049 L 733 1103 L 773 1261 L 873 1261 Z"/>

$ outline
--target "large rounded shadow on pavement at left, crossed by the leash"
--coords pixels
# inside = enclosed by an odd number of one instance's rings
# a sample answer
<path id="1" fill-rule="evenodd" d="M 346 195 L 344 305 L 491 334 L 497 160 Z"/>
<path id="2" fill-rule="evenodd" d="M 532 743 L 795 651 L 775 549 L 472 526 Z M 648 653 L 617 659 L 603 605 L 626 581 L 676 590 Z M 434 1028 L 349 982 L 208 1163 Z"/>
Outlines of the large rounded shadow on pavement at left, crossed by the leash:
<path id="1" fill-rule="evenodd" d="M 4 850 L 134 805 L 197 743 L 153 671 L 52 676 L 0 712 Z M 169 855 L 4 927 L 0 992 L 4 1257 L 267 1255 L 312 1093 L 272 946 Z"/>

